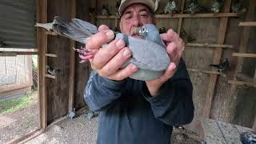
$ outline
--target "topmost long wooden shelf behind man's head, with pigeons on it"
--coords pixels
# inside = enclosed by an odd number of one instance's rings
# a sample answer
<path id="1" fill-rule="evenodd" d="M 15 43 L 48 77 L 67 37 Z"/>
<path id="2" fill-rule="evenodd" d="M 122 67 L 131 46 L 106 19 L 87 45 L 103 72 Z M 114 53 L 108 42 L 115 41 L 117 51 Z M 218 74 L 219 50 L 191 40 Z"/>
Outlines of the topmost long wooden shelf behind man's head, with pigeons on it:
<path id="1" fill-rule="evenodd" d="M 211 14 L 155 14 L 154 18 L 222 18 L 222 17 L 239 17 L 244 14 L 246 10 L 242 10 L 240 13 L 211 13 Z M 116 15 L 97 15 L 98 19 L 116 19 L 120 18 Z"/>

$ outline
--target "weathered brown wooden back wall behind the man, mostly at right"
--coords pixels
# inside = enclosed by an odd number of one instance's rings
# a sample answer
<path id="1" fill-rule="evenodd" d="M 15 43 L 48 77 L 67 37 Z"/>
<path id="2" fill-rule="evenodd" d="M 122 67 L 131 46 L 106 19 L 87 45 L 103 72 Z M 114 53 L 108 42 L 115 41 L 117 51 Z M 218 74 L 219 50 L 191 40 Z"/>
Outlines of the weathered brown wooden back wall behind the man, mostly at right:
<path id="1" fill-rule="evenodd" d="M 182 1 L 177 1 L 181 3 Z M 244 6 L 249 6 L 249 1 L 246 1 Z M 102 13 L 102 4 L 106 4 L 110 8 L 110 13 L 114 14 L 113 1 L 106 2 L 102 0 L 97 1 L 97 14 Z M 231 1 L 226 2 L 226 13 L 230 12 Z M 157 14 L 161 13 L 166 6 L 166 1 L 160 2 L 160 7 L 158 8 Z M 178 5 L 178 7 L 182 7 Z M 224 12 L 224 9 L 222 10 Z M 196 38 L 194 43 L 211 43 L 211 44 L 226 44 L 231 45 L 232 48 L 226 49 L 222 47 L 199 47 L 199 46 L 186 46 L 183 58 L 186 61 L 187 68 L 193 69 L 190 71 L 190 78 L 194 86 L 194 105 L 196 108 L 194 121 L 186 126 L 190 130 L 195 132 L 200 132 L 201 122 L 200 118 L 205 115 L 207 118 L 216 118 L 223 122 L 234 122 L 232 118 L 238 116 L 234 111 L 238 109 L 238 104 L 236 100 L 233 100 L 234 91 L 230 91 L 230 84 L 227 83 L 228 80 L 234 78 L 234 67 L 236 66 L 236 58 L 232 57 L 232 53 L 238 51 L 238 46 L 241 39 L 242 28 L 238 27 L 238 23 L 244 21 L 245 15 L 240 18 L 157 18 L 157 26 L 166 28 L 172 28 L 173 30 L 179 32 L 180 28 L 186 30 L 187 34 L 190 34 L 193 38 Z M 108 26 L 114 26 L 114 18 L 98 18 L 97 25 L 106 24 Z M 182 21 L 182 22 L 181 22 Z M 182 26 L 179 27 L 179 23 Z M 255 38 L 251 35 L 250 38 Z M 203 73 L 201 71 L 216 71 L 209 67 L 211 63 L 218 63 L 224 58 L 230 59 L 230 70 L 227 74 L 222 74 L 217 76 L 215 74 L 219 73 Z M 195 70 L 194 70 L 195 69 Z M 212 76 L 210 76 L 210 74 Z M 214 82 L 213 82 L 214 80 Z M 210 84 L 211 83 L 211 84 Z M 238 90 L 239 91 L 239 90 Z M 241 90 L 240 90 L 241 91 Z M 206 97 L 206 95 L 209 97 Z M 247 95 L 250 94 L 244 93 Z M 230 103 L 232 102 L 232 103 Z M 255 107 L 252 106 L 255 101 L 243 104 L 247 105 L 248 108 L 242 110 L 244 114 L 248 115 L 249 118 L 240 123 L 242 126 L 253 125 Z M 206 109 L 207 108 L 207 109 Z M 233 110 L 233 112 L 231 112 Z M 246 111 L 249 110 L 249 111 Z M 231 116 L 232 115 L 232 116 Z M 234 124 L 237 124 L 234 122 Z"/>

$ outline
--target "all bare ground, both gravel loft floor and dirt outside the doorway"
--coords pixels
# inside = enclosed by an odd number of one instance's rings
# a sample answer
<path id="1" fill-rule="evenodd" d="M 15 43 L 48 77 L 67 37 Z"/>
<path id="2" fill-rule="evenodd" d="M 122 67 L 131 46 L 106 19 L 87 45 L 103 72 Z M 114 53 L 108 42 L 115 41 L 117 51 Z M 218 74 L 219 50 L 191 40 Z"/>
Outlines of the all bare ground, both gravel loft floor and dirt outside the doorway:
<path id="1" fill-rule="evenodd" d="M 37 101 L 37 94 L 34 94 Z M 12 114 L 0 114 L 0 143 L 10 142 L 38 129 L 38 104 L 15 111 Z M 86 143 L 94 144 L 97 138 L 98 118 L 89 119 L 81 115 L 73 120 L 67 119 L 50 130 L 25 143 Z M 174 144 L 197 144 L 201 140 L 190 131 L 176 129 L 172 135 Z"/>

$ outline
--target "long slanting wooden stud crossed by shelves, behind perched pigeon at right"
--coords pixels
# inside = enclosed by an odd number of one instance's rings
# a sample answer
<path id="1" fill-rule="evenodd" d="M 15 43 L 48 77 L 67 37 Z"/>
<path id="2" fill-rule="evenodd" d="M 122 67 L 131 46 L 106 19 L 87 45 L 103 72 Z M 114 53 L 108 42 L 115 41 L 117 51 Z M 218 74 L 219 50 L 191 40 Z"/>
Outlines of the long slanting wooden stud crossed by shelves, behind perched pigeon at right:
<path id="1" fill-rule="evenodd" d="M 224 12 L 230 11 L 230 5 L 231 5 L 231 0 L 226 0 L 225 4 L 224 4 Z M 225 36 L 226 36 L 227 22 L 228 22 L 228 17 L 220 19 L 220 25 L 219 25 L 219 30 L 218 30 L 218 44 L 224 43 Z M 219 63 L 221 58 L 222 58 L 222 49 L 216 49 L 214 52 L 213 63 Z M 217 78 L 218 78 L 217 76 L 218 75 L 216 75 L 216 74 L 210 75 L 208 90 L 207 90 L 207 94 L 206 94 L 205 109 L 204 109 L 204 116 L 206 118 L 210 118 L 210 109 L 211 109 L 212 101 L 214 98 L 214 90 L 215 90 L 215 85 L 216 85 Z"/>

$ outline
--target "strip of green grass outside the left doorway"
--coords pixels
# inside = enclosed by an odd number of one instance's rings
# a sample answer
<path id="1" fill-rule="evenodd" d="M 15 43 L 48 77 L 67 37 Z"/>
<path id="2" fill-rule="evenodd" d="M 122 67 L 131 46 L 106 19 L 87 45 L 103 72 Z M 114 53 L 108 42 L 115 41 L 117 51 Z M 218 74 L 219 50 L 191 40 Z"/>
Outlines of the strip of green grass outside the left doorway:
<path id="1" fill-rule="evenodd" d="M 33 97 L 35 93 L 37 93 L 37 91 L 31 91 L 22 97 L 0 102 L 0 114 L 13 113 L 14 111 L 33 105 L 35 102 L 37 102 L 34 101 Z"/>

